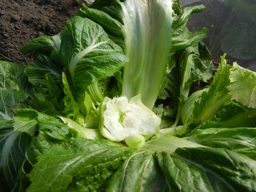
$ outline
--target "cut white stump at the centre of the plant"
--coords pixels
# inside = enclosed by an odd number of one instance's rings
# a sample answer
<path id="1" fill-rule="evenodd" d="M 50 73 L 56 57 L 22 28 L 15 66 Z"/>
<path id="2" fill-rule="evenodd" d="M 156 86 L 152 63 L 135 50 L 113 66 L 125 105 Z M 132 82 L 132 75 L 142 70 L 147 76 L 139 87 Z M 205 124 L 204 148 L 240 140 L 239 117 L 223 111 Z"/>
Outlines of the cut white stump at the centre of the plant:
<path id="1" fill-rule="evenodd" d="M 108 98 L 103 105 L 105 111 L 102 113 L 103 125 L 100 130 L 109 140 L 120 142 L 131 134 L 139 134 L 148 140 L 159 130 L 161 118 L 143 105 L 140 95 L 129 101 L 125 96 Z"/>

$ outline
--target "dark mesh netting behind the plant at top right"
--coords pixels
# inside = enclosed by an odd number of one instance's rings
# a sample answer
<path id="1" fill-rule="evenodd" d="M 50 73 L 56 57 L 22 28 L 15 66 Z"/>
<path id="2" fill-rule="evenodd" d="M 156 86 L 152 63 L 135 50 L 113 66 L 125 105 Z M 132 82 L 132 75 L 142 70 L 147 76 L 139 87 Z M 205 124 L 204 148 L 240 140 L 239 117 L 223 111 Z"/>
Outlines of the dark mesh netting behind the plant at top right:
<path id="1" fill-rule="evenodd" d="M 180 0 L 181 5 L 204 4 L 206 9 L 191 15 L 188 29 L 192 32 L 207 27 L 204 43 L 212 58 L 220 61 L 227 53 L 229 64 L 233 61 L 256 71 L 256 0 Z"/>

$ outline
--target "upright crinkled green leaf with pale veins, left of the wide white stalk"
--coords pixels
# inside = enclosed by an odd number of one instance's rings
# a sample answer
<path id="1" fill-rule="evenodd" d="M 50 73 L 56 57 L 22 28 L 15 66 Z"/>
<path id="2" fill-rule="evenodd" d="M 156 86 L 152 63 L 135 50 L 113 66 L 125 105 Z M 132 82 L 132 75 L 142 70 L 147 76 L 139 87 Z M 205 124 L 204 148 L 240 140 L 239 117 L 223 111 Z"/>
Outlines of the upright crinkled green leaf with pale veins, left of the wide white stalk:
<path id="1" fill-rule="evenodd" d="M 87 90 L 88 85 L 113 76 L 128 63 L 122 49 L 93 21 L 75 16 L 66 26 L 69 34 L 62 38 L 60 56 L 75 86 Z"/>

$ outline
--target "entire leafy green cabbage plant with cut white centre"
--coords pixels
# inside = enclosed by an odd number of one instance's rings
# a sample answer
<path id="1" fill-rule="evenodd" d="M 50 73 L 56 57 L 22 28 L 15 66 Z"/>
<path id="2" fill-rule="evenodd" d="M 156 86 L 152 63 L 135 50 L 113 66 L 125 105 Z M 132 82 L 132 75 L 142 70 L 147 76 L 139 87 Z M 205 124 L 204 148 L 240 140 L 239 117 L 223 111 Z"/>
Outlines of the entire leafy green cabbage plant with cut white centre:
<path id="1" fill-rule="evenodd" d="M 0 191 L 256 191 L 256 73 L 214 74 L 203 9 L 95 0 L 0 61 Z"/>

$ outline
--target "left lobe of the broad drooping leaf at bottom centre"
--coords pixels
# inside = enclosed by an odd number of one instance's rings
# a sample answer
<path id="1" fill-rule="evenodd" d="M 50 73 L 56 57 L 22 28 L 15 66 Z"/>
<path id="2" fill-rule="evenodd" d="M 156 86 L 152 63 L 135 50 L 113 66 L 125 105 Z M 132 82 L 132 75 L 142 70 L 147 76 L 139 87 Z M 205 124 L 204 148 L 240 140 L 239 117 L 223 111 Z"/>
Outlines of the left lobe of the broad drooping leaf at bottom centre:
<path id="1" fill-rule="evenodd" d="M 168 191 L 155 157 L 147 151 L 127 158 L 107 183 L 106 192 Z"/>

